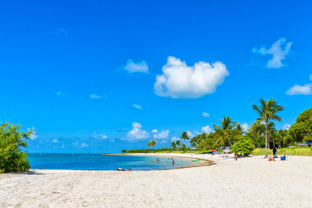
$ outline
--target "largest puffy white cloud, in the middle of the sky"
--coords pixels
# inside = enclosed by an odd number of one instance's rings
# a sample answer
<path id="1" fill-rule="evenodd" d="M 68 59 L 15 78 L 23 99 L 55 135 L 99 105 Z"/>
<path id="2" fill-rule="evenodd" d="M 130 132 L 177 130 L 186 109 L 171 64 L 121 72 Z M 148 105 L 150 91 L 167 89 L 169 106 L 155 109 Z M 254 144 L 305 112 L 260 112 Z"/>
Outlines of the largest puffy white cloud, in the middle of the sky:
<path id="1" fill-rule="evenodd" d="M 163 74 L 156 75 L 154 93 L 171 98 L 199 98 L 215 92 L 224 78 L 229 75 L 227 67 L 220 61 L 210 65 L 199 61 L 194 66 L 186 65 L 173 56 L 168 56 Z"/>

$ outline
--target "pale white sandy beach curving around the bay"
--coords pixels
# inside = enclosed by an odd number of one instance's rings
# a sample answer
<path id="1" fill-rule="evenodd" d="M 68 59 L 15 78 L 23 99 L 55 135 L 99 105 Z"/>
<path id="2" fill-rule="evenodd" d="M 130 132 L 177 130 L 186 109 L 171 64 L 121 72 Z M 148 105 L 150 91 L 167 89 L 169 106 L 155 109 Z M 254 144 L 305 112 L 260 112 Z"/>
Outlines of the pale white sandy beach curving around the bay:
<path id="1" fill-rule="evenodd" d="M 189 154 L 154 154 L 190 157 Z M 162 171 L 35 170 L 0 175 L 0 207 L 311 207 L 312 157 L 218 160 Z"/>

